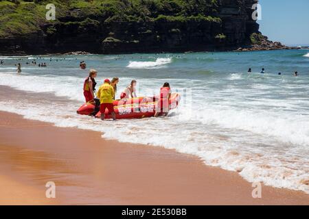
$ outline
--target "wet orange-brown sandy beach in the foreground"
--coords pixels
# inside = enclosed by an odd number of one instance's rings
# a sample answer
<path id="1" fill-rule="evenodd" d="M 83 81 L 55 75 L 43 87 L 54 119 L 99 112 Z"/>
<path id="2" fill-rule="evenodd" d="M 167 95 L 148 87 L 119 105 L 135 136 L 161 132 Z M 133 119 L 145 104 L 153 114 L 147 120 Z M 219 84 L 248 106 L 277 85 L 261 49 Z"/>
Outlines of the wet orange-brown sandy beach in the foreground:
<path id="1" fill-rule="evenodd" d="M 107 122 L 108 123 L 108 122 Z M 0 113 L 3 205 L 308 205 L 304 192 L 251 183 L 174 150 L 104 140 L 95 131 L 54 127 Z M 56 198 L 45 198 L 47 181 Z"/>

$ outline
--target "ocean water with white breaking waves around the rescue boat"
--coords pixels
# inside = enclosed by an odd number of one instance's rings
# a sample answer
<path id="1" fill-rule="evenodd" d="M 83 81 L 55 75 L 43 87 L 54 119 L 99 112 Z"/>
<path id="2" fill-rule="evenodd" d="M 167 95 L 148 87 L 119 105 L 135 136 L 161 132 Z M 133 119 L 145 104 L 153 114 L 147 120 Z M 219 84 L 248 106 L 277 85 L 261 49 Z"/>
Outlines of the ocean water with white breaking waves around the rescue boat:
<path id="1" fill-rule="evenodd" d="M 25 64 L 33 59 L 47 67 Z M 0 86 L 25 91 L 2 94 L 0 110 L 60 127 L 100 131 L 103 138 L 120 142 L 176 149 L 201 157 L 207 165 L 237 171 L 247 181 L 309 194 L 308 50 L 0 60 Z M 87 70 L 78 68 L 82 60 Z M 131 79 L 138 81 L 139 96 L 157 94 L 168 81 L 181 94 L 181 104 L 167 118 L 103 122 L 80 116 L 76 110 L 84 101 L 82 83 L 89 68 L 98 70 L 98 83 L 119 77 L 118 97 Z M 298 77 L 293 76 L 296 70 Z"/>

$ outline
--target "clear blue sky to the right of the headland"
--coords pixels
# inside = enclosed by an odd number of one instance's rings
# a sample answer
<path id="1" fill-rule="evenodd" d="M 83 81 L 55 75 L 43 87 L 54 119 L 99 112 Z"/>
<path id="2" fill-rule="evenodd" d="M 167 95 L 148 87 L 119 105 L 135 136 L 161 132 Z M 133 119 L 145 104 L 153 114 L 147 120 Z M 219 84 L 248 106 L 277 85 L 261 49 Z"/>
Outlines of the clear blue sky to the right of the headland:
<path id="1" fill-rule="evenodd" d="M 309 0 L 260 0 L 260 31 L 270 40 L 309 45 Z"/>

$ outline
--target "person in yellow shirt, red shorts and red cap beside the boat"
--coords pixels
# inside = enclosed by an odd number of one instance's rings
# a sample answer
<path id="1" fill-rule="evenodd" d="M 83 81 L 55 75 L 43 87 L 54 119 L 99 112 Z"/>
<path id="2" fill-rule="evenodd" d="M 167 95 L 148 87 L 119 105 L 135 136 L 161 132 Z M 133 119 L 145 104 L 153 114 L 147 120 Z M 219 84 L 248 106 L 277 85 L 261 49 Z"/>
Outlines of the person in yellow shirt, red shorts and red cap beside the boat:
<path id="1" fill-rule="evenodd" d="M 108 114 L 111 114 L 113 120 L 116 120 L 116 115 L 114 112 L 114 105 L 113 105 L 113 97 L 114 97 L 114 88 L 111 86 L 111 81 L 109 79 L 105 79 L 102 86 L 100 86 L 98 90 L 98 98 L 100 99 L 100 112 L 101 112 L 101 119 L 104 120 L 105 118 L 105 110 L 107 108 Z"/>

